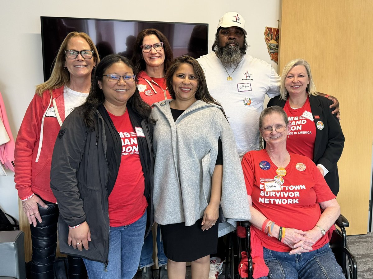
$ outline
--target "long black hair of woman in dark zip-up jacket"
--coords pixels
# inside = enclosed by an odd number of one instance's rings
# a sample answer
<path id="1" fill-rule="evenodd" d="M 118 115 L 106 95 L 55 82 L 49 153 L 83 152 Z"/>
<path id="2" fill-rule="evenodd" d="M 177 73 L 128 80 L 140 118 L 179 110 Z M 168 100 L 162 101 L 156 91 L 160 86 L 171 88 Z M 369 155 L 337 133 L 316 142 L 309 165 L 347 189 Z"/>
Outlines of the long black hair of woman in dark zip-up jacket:
<path id="1" fill-rule="evenodd" d="M 132 64 L 132 62 L 128 58 L 122 55 L 110 54 L 105 56 L 97 65 L 97 68 L 94 73 L 96 81 L 91 84 L 90 93 L 88 94 L 87 99 L 80 107 L 78 107 L 78 109 L 81 110 L 81 114 L 84 118 L 85 125 L 87 125 L 87 127 L 91 129 L 94 129 L 95 125 L 95 112 L 98 106 L 100 106 L 105 100 L 104 93 L 102 92 L 102 89 L 98 87 L 97 81 L 102 80 L 103 74 L 106 71 L 106 69 L 117 62 L 122 62 L 126 64 L 128 67 L 132 69 L 132 71 L 134 71 L 135 69 L 134 64 Z M 135 82 L 137 83 L 137 78 Z M 145 103 L 141 99 L 137 86 L 135 93 L 127 101 L 127 107 L 132 108 L 132 110 L 138 116 L 145 119 L 145 121 L 149 122 L 153 120 L 150 119 L 151 108 L 147 103 Z"/>

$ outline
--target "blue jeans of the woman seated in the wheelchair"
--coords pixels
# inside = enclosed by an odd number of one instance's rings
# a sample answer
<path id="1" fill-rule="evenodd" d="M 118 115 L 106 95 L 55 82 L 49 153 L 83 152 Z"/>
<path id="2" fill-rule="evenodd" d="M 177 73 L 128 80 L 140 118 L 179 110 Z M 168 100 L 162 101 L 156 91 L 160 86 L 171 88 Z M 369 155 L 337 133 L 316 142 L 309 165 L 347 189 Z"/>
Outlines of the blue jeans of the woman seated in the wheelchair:
<path id="1" fill-rule="evenodd" d="M 269 279 L 345 279 L 329 243 L 320 249 L 290 255 L 263 247 L 264 262 L 269 268 Z M 261 277 L 267 278 L 267 277 Z"/>

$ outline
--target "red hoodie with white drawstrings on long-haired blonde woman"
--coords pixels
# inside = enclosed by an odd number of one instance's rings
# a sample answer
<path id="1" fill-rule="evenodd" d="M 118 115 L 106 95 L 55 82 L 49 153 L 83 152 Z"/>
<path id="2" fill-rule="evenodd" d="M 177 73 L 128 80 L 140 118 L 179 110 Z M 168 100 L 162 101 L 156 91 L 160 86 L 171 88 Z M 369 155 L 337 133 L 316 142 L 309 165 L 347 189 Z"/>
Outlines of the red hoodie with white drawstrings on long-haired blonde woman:
<path id="1" fill-rule="evenodd" d="M 63 86 L 35 94 L 26 110 L 15 144 L 15 178 L 18 196 L 38 194 L 56 203 L 50 189 L 50 164 L 54 142 L 65 120 Z"/>

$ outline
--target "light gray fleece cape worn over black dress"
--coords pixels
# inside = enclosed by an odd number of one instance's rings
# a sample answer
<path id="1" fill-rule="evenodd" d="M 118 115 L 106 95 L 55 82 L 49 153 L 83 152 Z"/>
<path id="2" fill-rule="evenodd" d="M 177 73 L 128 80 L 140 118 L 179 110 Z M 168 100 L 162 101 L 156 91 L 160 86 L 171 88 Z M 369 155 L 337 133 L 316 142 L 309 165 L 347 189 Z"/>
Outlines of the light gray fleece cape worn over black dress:
<path id="1" fill-rule="evenodd" d="M 219 237 L 232 231 L 236 221 L 250 220 L 248 196 L 236 142 L 220 106 L 197 100 L 173 120 L 169 102 L 154 104 L 157 120 L 153 134 L 154 220 L 161 225 L 203 217 L 210 201 L 211 177 L 218 140 L 223 146 L 223 181 L 220 206 L 224 219 Z"/>

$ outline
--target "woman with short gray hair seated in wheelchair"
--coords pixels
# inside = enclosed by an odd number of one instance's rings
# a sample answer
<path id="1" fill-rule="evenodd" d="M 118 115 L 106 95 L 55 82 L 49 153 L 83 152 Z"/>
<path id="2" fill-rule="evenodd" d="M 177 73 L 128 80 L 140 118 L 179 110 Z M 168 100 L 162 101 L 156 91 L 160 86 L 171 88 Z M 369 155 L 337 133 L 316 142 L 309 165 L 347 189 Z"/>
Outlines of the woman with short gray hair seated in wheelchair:
<path id="1" fill-rule="evenodd" d="M 263 258 L 269 269 L 267 275 L 261 261 L 264 277 L 254 278 L 345 278 L 329 247 L 340 214 L 335 195 L 313 161 L 286 150 L 291 125 L 282 108 L 264 109 L 259 126 L 266 149 L 242 159 L 256 251 L 251 256 Z M 256 266 L 254 260 L 254 272 Z"/>

